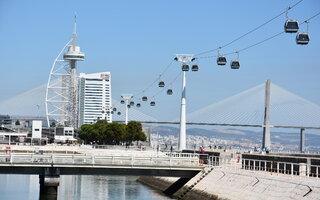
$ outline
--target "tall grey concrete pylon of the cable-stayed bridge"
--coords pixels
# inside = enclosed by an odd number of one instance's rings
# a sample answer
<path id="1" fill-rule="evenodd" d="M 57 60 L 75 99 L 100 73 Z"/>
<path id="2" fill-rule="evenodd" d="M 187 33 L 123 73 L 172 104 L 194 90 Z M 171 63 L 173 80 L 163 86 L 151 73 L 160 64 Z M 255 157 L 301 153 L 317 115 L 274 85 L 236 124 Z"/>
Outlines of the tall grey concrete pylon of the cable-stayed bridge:
<path id="1" fill-rule="evenodd" d="M 270 148 L 270 80 L 266 81 L 262 149 Z"/>

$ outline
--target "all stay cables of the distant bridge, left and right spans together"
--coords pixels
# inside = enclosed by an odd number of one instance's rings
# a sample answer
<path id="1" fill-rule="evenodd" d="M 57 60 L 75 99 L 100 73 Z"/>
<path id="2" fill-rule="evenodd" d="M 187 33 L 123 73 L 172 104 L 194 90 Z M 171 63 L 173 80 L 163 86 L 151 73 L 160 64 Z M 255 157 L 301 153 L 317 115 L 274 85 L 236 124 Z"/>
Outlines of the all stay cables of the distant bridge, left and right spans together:
<path id="1" fill-rule="evenodd" d="M 20 116 L 45 115 L 45 88 L 41 85 L 6 101 L 0 102 L 0 113 Z M 265 86 L 260 84 L 220 102 L 187 114 L 190 125 L 262 127 Z M 271 84 L 270 124 L 276 128 L 320 129 L 320 106 Z M 120 105 L 117 100 L 114 104 Z M 118 106 L 114 121 L 123 121 L 124 106 Z M 159 121 L 138 109 L 130 108 L 129 120 L 144 123 L 178 124 L 178 120 Z"/>

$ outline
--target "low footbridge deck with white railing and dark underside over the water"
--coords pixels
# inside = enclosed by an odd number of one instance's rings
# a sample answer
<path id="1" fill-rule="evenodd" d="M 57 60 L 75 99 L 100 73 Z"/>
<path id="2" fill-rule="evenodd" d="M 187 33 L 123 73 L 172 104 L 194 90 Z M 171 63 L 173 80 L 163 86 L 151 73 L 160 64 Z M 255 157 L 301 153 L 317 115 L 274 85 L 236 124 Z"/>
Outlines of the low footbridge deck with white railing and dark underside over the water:
<path id="1" fill-rule="evenodd" d="M 187 155 L 187 154 L 186 154 Z M 168 176 L 191 178 L 203 169 L 198 157 L 135 157 L 56 154 L 0 155 L 1 174 Z"/>

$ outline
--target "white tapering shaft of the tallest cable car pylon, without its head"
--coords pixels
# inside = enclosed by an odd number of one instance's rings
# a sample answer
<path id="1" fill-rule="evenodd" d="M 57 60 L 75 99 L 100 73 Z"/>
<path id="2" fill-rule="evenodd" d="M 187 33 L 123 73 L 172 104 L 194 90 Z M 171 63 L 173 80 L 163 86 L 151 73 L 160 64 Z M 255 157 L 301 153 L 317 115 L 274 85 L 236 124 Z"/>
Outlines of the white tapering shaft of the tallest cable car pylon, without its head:
<path id="1" fill-rule="evenodd" d="M 186 72 L 182 72 L 182 96 L 180 114 L 179 151 L 186 148 Z"/>

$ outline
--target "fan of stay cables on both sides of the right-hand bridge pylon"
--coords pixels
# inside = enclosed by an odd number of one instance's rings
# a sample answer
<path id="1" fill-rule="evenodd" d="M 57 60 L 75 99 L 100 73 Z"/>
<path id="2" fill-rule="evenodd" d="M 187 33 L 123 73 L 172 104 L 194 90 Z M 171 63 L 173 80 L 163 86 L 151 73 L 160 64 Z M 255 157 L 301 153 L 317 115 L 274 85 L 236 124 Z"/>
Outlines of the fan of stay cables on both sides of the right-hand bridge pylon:
<path id="1" fill-rule="evenodd" d="M 258 85 L 192 112 L 187 116 L 188 122 L 261 126 L 264 87 Z M 320 106 L 271 84 L 270 123 L 274 127 L 320 128 Z"/>

